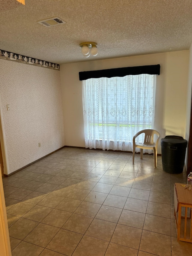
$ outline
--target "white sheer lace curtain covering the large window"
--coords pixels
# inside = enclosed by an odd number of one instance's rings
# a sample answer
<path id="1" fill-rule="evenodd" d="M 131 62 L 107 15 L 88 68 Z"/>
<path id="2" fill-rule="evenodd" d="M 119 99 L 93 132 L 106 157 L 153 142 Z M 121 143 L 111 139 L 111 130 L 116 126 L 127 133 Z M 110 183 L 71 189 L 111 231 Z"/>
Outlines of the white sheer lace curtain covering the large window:
<path id="1" fill-rule="evenodd" d="M 83 80 L 85 147 L 132 151 L 133 136 L 153 128 L 155 82 L 149 74 Z"/>

